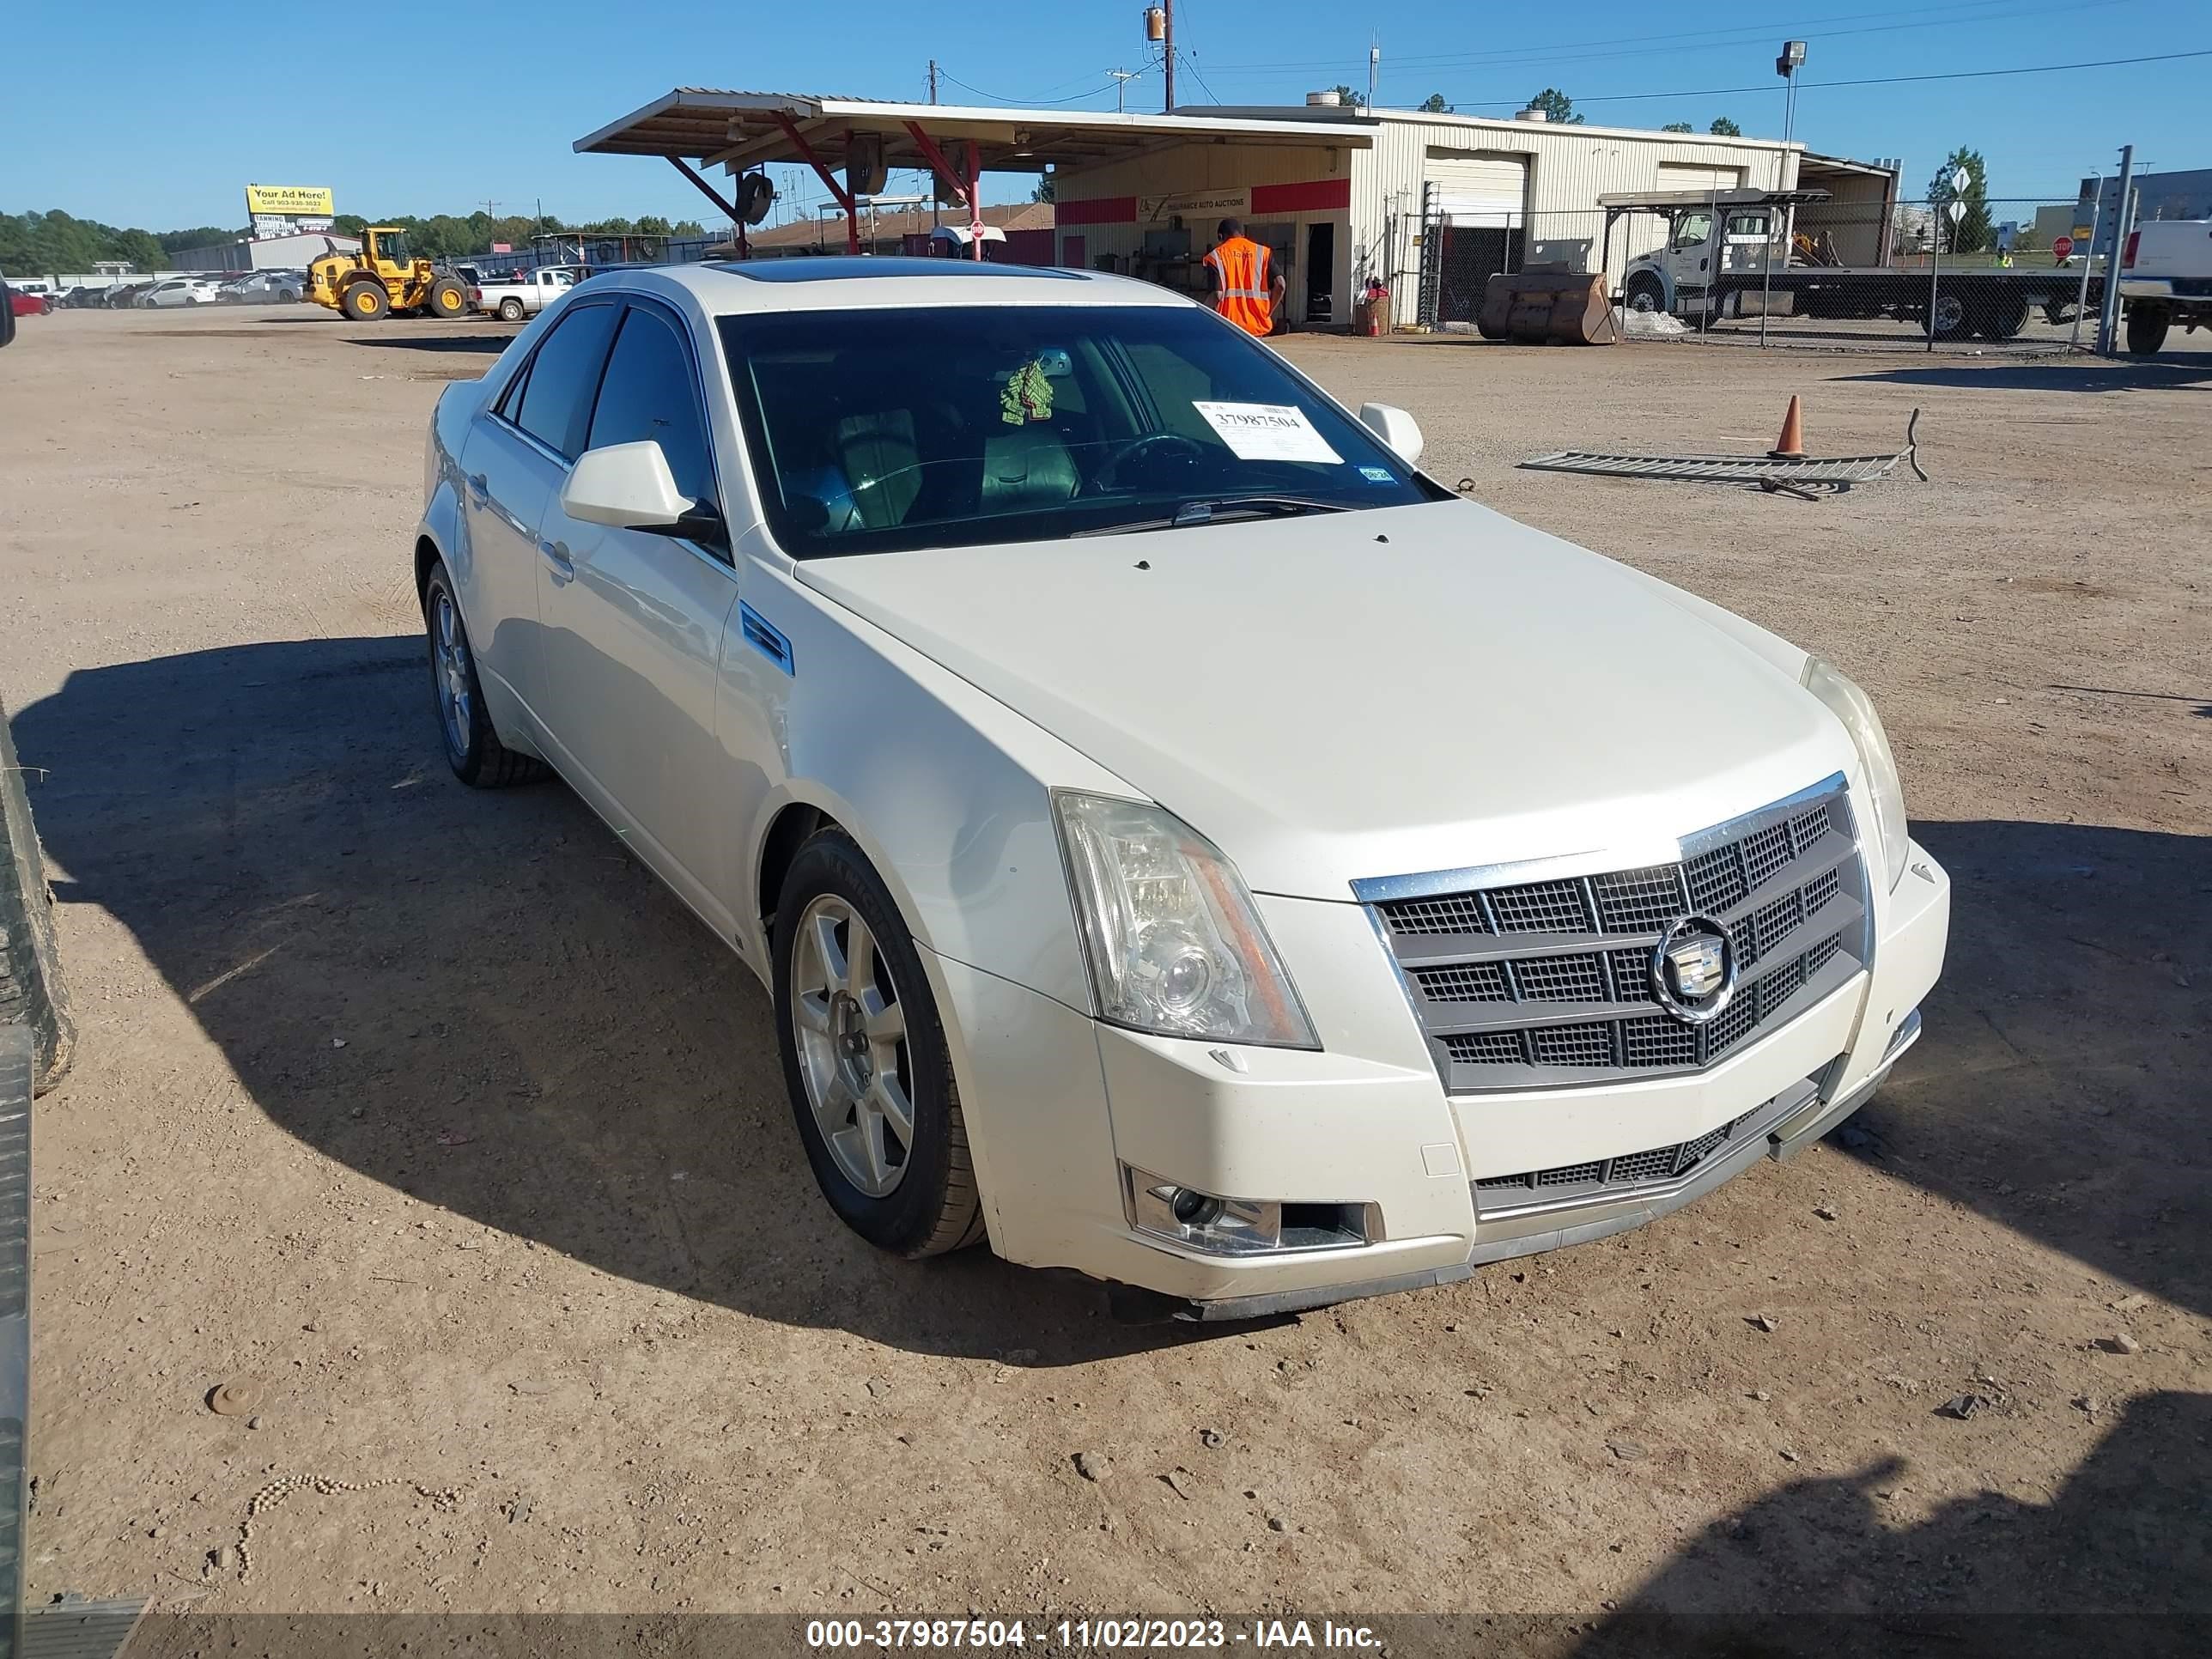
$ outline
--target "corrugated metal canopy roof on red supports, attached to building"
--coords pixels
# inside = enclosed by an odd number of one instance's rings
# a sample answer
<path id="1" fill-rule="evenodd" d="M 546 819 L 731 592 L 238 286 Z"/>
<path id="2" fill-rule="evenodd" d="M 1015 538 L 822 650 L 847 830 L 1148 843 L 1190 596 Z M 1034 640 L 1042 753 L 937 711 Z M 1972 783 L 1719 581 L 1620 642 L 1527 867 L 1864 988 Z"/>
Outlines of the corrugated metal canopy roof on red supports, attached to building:
<path id="1" fill-rule="evenodd" d="M 666 155 L 726 166 L 732 173 L 765 161 L 807 161 L 783 128 L 785 117 L 823 157 L 843 161 L 845 139 L 883 139 L 885 166 L 929 168 L 907 133 L 918 124 L 936 144 L 971 139 L 982 173 L 1042 173 L 1117 161 L 1175 144 L 1332 144 L 1365 150 L 1374 126 L 1223 115 L 1117 115 L 1108 111 L 987 108 L 962 104 L 891 104 L 823 93 L 723 93 L 679 86 L 619 122 L 580 137 L 582 155 Z"/>

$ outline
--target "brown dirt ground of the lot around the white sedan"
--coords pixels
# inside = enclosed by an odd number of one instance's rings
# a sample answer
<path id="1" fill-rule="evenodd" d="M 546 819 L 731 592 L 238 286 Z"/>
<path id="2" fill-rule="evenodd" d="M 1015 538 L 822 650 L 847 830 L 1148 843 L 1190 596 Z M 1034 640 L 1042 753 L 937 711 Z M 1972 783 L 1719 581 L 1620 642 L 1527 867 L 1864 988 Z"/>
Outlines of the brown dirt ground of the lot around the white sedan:
<path id="1" fill-rule="evenodd" d="M 748 971 L 566 790 L 451 781 L 407 549 L 504 338 L 64 312 L 0 356 L 0 697 L 84 1029 L 33 1601 L 2212 1617 L 2212 356 L 1290 343 L 1444 482 L 1860 679 L 1955 918 L 1849 1144 L 1194 1334 L 869 1252 Z M 1763 449 L 1790 392 L 1827 453 L 1918 405 L 1933 482 L 1515 471 Z M 279 1475 L 398 1484 L 290 1495 L 248 1575 Z"/>

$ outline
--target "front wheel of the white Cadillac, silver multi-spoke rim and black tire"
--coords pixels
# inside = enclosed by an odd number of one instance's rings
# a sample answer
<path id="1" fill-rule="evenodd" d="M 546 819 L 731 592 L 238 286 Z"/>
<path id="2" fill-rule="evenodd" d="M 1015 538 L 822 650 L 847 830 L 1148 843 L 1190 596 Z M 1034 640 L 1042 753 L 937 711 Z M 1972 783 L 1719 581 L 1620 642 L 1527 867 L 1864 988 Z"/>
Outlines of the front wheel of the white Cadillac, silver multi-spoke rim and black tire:
<path id="1" fill-rule="evenodd" d="M 783 878 L 774 984 L 792 1117 L 838 1219 L 909 1259 L 982 1239 L 960 1091 L 920 951 L 843 830 L 807 841 Z"/>

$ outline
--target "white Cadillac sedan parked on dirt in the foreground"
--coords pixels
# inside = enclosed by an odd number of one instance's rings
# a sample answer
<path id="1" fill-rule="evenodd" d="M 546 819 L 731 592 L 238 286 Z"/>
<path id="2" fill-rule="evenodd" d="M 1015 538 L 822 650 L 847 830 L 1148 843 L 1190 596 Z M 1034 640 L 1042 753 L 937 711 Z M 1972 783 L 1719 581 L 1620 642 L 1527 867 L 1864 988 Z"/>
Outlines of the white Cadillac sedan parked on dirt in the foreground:
<path id="1" fill-rule="evenodd" d="M 1115 276 L 599 276 L 438 403 L 447 754 L 768 982 L 885 1250 L 1241 1318 L 1599 1239 L 1882 1084 L 1949 880 L 1836 668 L 1418 458 Z"/>

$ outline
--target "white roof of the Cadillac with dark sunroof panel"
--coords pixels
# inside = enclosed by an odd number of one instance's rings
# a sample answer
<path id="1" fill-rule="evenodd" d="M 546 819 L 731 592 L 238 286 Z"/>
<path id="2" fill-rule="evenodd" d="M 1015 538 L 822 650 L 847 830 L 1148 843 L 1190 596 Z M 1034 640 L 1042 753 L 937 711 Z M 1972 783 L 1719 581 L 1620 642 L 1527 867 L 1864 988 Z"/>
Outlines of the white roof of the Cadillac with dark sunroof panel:
<path id="1" fill-rule="evenodd" d="M 907 257 L 794 257 L 712 265 L 615 268 L 606 288 L 688 290 L 708 314 L 894 310 L 907 305 L 1188 305 L 1155 283 L 1055 265 L 991 265 Z"/>

